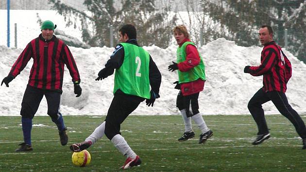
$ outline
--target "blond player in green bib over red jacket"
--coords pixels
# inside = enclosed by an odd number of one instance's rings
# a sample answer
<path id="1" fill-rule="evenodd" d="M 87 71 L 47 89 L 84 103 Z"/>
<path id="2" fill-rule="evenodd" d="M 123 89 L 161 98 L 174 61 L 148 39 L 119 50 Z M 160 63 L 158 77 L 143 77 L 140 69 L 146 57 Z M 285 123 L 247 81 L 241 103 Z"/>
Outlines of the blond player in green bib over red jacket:
<path id="1" fill-rule="evenodd" d="M 168 69 L 170 71 L 178 69 L 179 80 L 175 82 L 177 84 L 175 88 L 180 91 L 177 95 L 176 107 L 181 111 L 185 123 L 185 132 L 178 141 L 186 141 L 194 137 L 191 127 L 192 119 L 202 132 L 199 139 L 199 144 L 202 144 L 213 135 L 199 112 L 199 93 L 204 89 L 206 80 L 204 62 L 194 43 L 189 40 L 186 26 L 174 27 L 173 34 L 179 46 L 176 52 L 177 62 L 172 62 Z"/>

